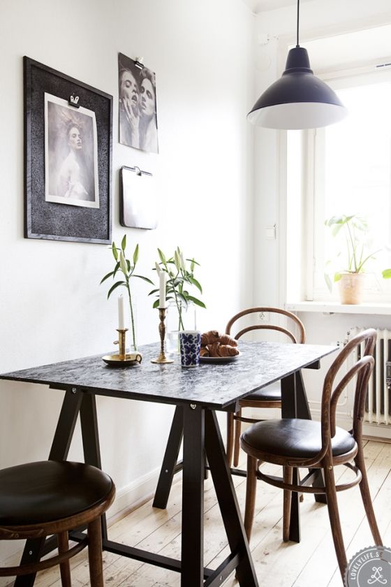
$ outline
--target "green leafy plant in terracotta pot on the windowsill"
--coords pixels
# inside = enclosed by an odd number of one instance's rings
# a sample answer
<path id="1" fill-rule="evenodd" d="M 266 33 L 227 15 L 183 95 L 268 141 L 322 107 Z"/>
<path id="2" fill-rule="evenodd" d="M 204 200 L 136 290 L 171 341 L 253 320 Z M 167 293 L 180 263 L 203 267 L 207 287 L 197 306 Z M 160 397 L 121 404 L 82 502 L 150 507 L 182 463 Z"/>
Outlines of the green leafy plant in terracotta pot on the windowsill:
<path id="1" fill-rule="evenodd" d="M 364 287 L 365 268 L 370 259 L 375 259 L 376 253 L 381 249 L 371 251 L 369 247 L 369 227 L 364 217 L 353 214 L 351 216 L 332 216 L 325 221 L 325 225 L 332 231 L 334 238 L 340 238 L 344 242 L 342 250 L 337 254 L 339 270 L 334 272 L 334 282 L 339 282 L 339 295 L 342 304 L 362 303 L 362 291 Z M 327 262 L 330 266 L 331 261 Z M 383 270 L 383 277 L 391 277 L 391 269 Z M 332 291 L 332 277 L 325 273 L 325 282 L 330 292 Z"/>

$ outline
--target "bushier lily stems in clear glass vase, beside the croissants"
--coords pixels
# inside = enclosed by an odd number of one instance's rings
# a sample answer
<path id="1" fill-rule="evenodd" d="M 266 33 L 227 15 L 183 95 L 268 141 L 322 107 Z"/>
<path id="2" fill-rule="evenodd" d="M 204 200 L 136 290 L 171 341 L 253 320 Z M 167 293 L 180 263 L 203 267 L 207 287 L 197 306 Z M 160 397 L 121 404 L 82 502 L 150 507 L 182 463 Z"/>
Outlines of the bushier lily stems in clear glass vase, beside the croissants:
<path id="1" fill-rule="evenodd" d="M 195 304 L 200 307 L 206 307 L 205 303 L 189 292 L 189 289 L 193 287 L 202 293 L 201 284 L 194 277 L 195 267 L 200 266 L 200 263 L 197 263 L 195 259 L 184 259 L 184 255 L 179 247 L 175 249 L 171 257 L 166 257 L 163 251 L 158 249 L 158 256 L 160 261 L 155 263 L 154 269 L 158 274 L 161 271 L 167 273 L 165 299 L 169 301 L 168 314 L 170 314 L 170 308 L 172 307 L 175 308 L 177 314 L 175 324 L 172 324 L 171 328 L 168 326 L 168 346 L 170 346 L 172 352 L 177 349 L 178 331 L 185 330 L 184 314 L 186 314 L 189 306 Z M 149 296 L 154 293 L 158 293 L 158 289 L 152 289 L 149 292 Z M 156 299 L 153 307 L 158 307 L 158 303 L 159 300 Z M 172 319 L 170 321 L 172 323 Z M 195 324 L 192 325 L 191 329 L 194 328 Z"/>

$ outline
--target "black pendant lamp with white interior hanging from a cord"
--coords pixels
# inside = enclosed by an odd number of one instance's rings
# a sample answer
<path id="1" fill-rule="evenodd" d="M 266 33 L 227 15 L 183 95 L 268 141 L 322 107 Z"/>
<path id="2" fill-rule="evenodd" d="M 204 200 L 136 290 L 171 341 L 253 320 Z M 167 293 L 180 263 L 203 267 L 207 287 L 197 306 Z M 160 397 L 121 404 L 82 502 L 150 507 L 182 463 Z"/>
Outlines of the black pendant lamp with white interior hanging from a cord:
<path id="1" fill-rule="evenodd" d="M 281 78 L 263 92 L 247 115 L 249 121 L 267 129 L 317 129 L 343 119 L 348 110 L 309 66 L 307 49 L 299 45 L 297 0 L 297 45 L 290 49 Z"/>

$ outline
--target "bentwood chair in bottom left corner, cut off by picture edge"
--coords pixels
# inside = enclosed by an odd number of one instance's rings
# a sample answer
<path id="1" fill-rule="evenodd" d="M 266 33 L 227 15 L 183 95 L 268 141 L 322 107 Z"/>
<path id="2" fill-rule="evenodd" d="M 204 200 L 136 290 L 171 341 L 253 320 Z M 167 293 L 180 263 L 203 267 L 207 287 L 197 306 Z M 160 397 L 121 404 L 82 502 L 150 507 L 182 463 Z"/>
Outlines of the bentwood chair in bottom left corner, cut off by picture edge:
<path id="1" fill-rule="evenodd" d="M 88 545 L 92 587 L 103 587 L 101 515 L 115 498 L 112 479 L 84 463 L 40 461 L 0 470 L 0 539 L 57 535 L 58 554 L 36 563 L 0 567 L 0 577 L 60 566 L 61 585 L 71 587 L 69 559 Z M 68 531 L 87 525 L 87 537 L 68 545 Z M 24 558 L 24 557 L 23 557 Z"/>

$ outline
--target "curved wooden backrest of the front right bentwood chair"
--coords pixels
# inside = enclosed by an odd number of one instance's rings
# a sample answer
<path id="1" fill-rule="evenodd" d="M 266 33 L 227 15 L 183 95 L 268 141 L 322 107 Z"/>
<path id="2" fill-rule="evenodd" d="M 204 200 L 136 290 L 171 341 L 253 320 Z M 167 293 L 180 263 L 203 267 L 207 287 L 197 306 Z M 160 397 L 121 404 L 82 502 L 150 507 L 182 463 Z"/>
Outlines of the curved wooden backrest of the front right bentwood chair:
<path id="1" fill-rule="evenodd" d="M 334 381 L 339 374 L 343 365 L 355 352 L 359 345 L 365 343 L 364 354 L 359 361 L 355 361 L 339 382 L 334 385 Z M 322 450 L 325 452 L 331 449 L 331 441 L 336 431 L 336 410 L 339 397 L 346 386 L 354 377 L 357 377 L 355 384 L 355 400 L 353 409 L 353 435 L 357 441 L 361 440 L 362 420 L 364 418 L 365 399 L 369 377 L 374 368 L 374 348 L 376 344 L 376 330 L 368 328 L 365 331 L 353 337 L 344 349 L 341 350 L 330 369 L 327 371 L 325 382 L 323 384 L 322 395 Z"/>

